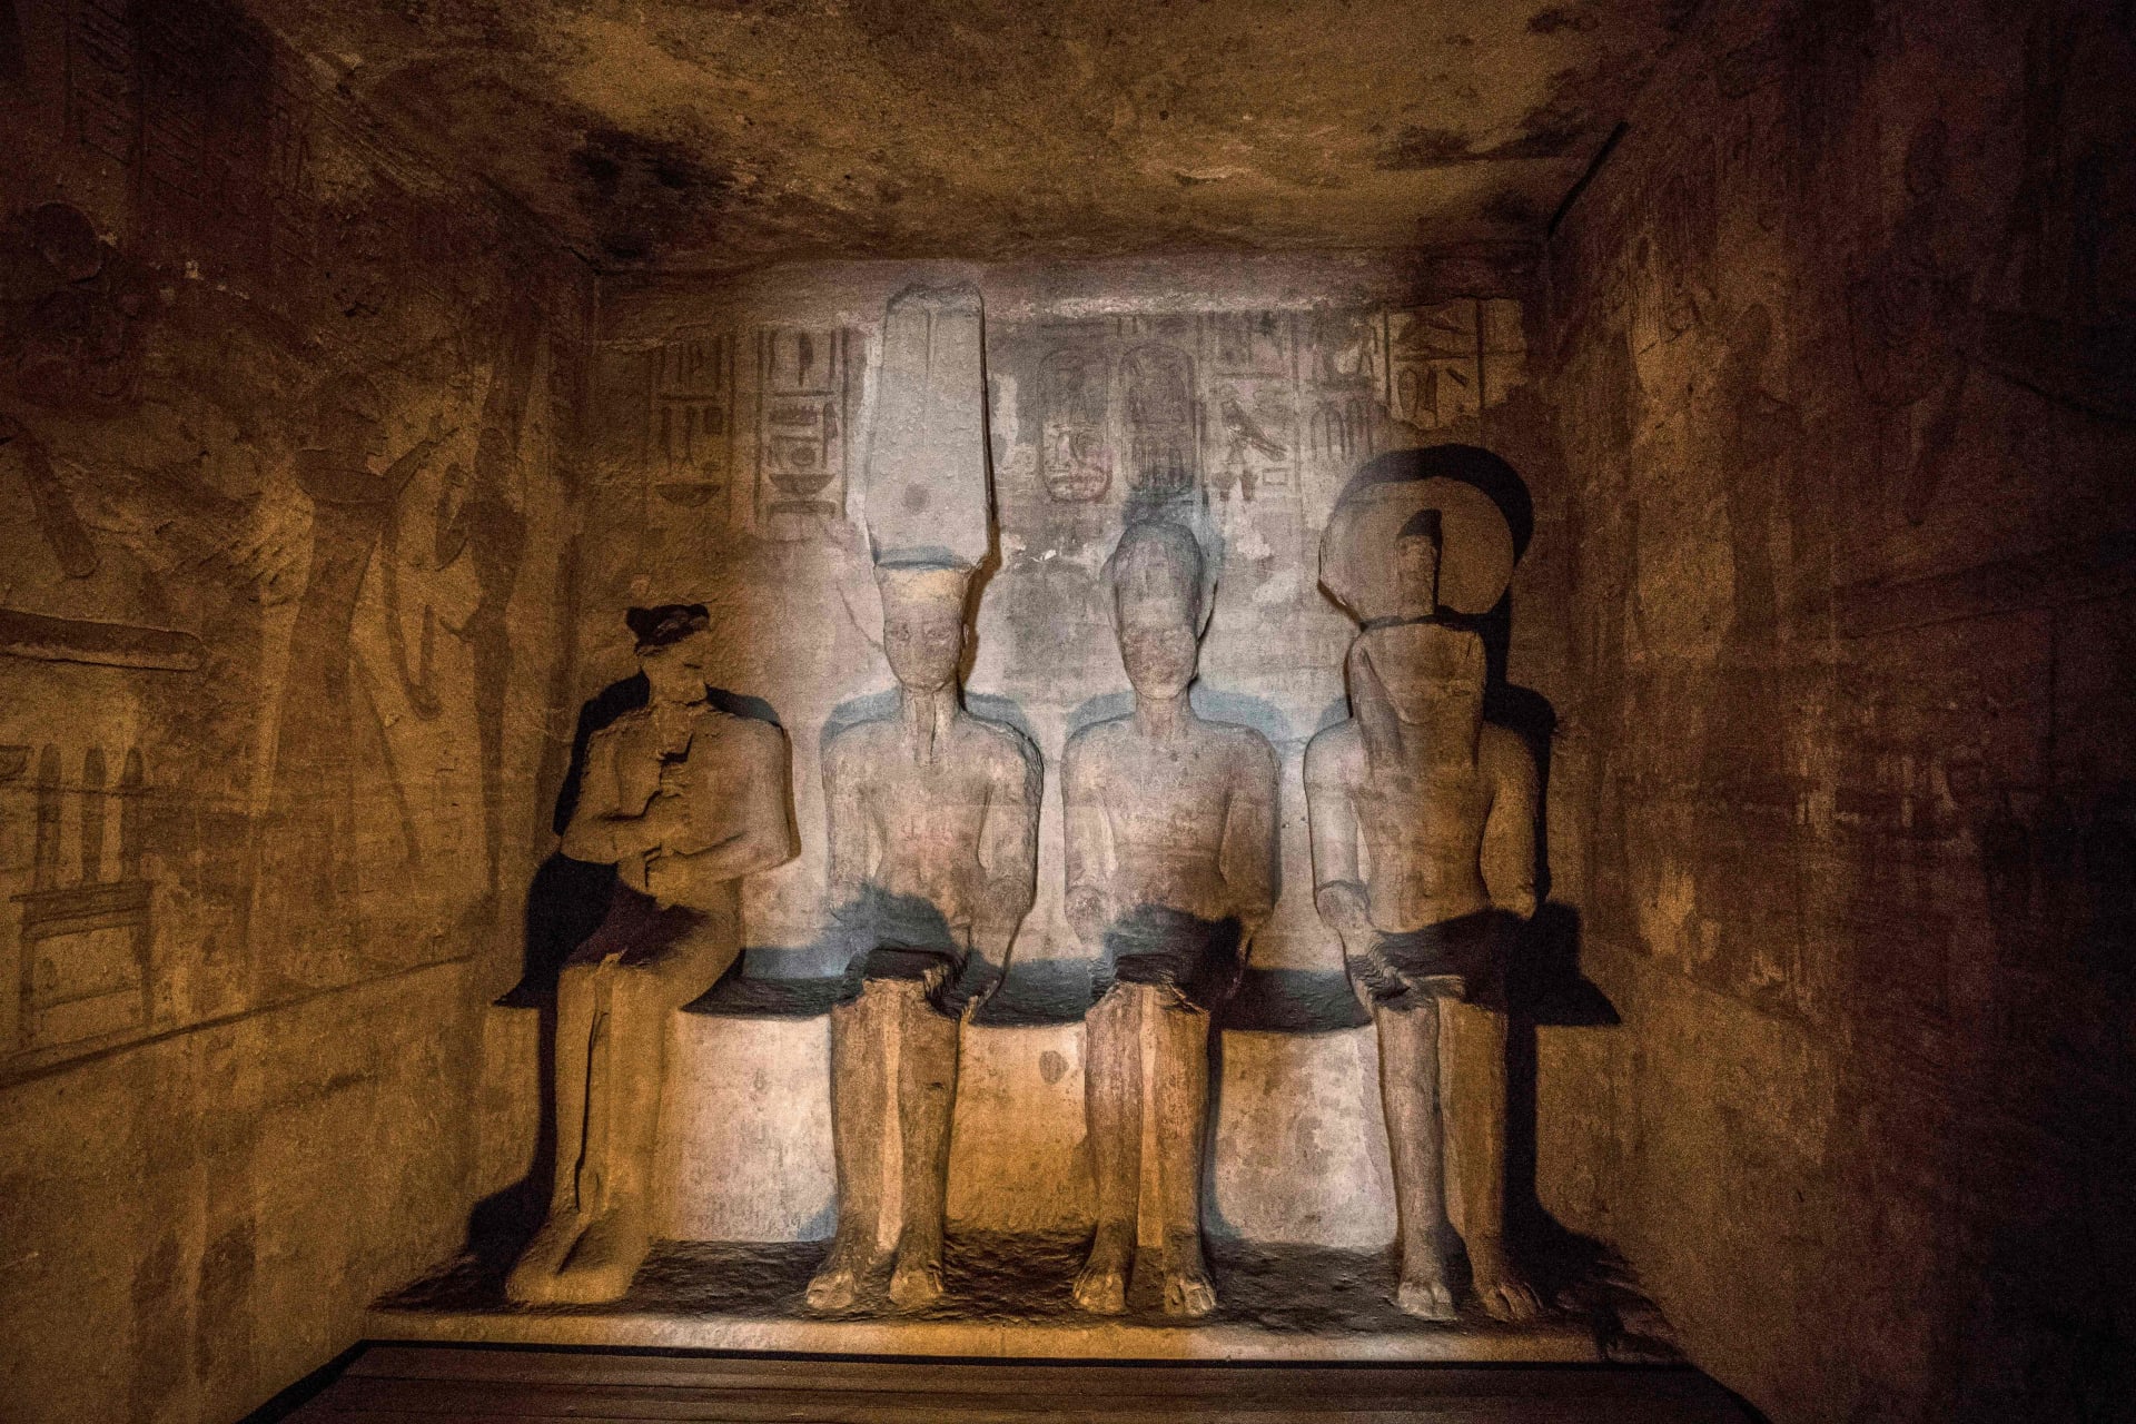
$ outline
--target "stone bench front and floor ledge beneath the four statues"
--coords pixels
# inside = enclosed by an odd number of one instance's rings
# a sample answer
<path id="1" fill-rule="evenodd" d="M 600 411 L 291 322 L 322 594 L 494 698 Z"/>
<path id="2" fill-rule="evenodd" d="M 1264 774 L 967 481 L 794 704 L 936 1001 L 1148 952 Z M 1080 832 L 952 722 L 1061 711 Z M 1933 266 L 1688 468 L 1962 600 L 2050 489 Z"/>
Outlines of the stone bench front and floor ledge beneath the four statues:
<path id="1" fill-rule="evenodd" d="M 1258 1010 L 1256 1010 L 1258 1014 Z M 485 1023 L 485 1174 L 525 1170 L 534 1010 Z M 1269 1018 L 1250 1016 L 1267 1025 Z M 408 1341 L 1132 1360 L 1596 1360 L 1591 1319 L 1480 1315 L 1429 1326 L 1393 1307 L 1395 1204 L 1373 1029 L 1232 1027 L 1215 1055 L 1203 1217 L 1220 1309 L 1179 1324 L 1074 1311 L 1094 1221 L 1083 1025 L 965 1025 L 951 1151 L 948 1294 L 918 1313 L 865 1300 L 812 1315 L 803 1287 L 835 1213 L 829 1016 L 677 1012 L 656 1157 L 660 1245 L 613 1304 L 525 1309 L 464 1257 L 380 1302 Z M 880 1283 L 878 1283 L 880 1285 Z"/>

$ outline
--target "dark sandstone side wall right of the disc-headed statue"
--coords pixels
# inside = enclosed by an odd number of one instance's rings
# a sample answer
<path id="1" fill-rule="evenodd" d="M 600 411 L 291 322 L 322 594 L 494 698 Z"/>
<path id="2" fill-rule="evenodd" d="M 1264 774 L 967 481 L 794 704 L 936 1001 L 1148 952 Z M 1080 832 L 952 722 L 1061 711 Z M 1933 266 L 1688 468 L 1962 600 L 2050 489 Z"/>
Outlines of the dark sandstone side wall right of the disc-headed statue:
<path id="1" fill-rule="evenodd" d="M 1544 1200 L 1781 1422 L 2132 1390 L 2130 38 L 1711 6 L 1551 246 Z"/>

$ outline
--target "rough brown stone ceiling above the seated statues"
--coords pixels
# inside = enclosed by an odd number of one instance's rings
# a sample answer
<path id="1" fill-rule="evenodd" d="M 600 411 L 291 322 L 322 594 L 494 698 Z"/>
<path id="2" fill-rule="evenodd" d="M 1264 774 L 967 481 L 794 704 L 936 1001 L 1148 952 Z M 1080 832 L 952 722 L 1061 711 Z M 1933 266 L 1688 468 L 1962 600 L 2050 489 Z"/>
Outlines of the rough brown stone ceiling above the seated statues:
<path id="1" fill-rule="evenodd" d="M 602 269 L 1534 235 L 1696 0 L 250 0 Z"/>

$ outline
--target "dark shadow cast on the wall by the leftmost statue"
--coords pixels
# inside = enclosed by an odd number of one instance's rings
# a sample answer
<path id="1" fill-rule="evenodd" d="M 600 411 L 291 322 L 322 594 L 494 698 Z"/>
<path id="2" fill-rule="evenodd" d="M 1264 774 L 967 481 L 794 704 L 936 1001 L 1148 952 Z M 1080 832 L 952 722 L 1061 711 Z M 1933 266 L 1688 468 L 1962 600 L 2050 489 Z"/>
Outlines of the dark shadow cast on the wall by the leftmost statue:
<path id="1" fill-rule="evenodd" d="M 707 700 L 733 715 L 754 717 L 780 726 L 771 702 L 724 687 L 707 687 Z M 585 751 L 594 734 L 628 711 L 637 711 L 651 700 L 651 685 L 643 673 L 609 683 L 579 709 L 579 726 L 570 739 L 570 764 L 564 771 L 564 786 L 555 794 L 555 816 L 551 830 L 562 837 L 579 809 L 579 786 L 585 779 Z M 496 1275 L 502 1287 L 504 1272 L 511 1270 L 521 1247 L 540 1230 L 549 1211 L 549 1189 L 555 1178 L 555 991 L 564 974 L 564 961 L 585 944 L 602 918 L 609 914 L 609 899 L 615 892 L 615 867 L 572 860 L 562 850 L 549 854 L 534 869 L 528 886 L 525 935 L 521 942 L 519 982 L 496 999 L 498 1008 L 532 1010 L 540 1016 L 536 1085 L 540 1091 L 540 1119 L 534 1134 L 534 1161 L 528 1174 L 474 1204 L 468 1217 L 466 1251 L 476 1257 L 478 1270 Z M 739 956 L 735 961 L 741 963 Z"/>

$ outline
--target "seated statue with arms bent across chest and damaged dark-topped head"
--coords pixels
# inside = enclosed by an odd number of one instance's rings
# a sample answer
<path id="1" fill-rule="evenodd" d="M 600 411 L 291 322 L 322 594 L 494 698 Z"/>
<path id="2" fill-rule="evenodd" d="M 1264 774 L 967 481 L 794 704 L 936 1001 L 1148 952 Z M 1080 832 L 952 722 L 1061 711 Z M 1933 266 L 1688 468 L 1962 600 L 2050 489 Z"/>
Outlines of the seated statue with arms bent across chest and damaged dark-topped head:
<path id="1" fill-rule="evenodd" d="M 630 630 L 651 698 L 594 734 L 564 830 L 564 854 L 613 865 L 617 886 L 557 988 L 555 1189 L 506 1279 L 532 1304 L 630 1287 L 649 1245 L 669 1016 L 735 961 L 741 877 L 799 850 L 786 734 L 707 700 L 705 608 L 632 608 Z"/>

